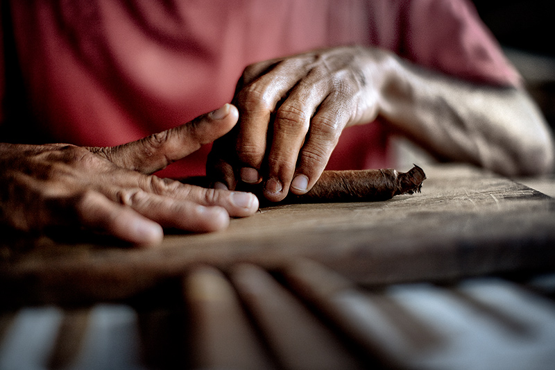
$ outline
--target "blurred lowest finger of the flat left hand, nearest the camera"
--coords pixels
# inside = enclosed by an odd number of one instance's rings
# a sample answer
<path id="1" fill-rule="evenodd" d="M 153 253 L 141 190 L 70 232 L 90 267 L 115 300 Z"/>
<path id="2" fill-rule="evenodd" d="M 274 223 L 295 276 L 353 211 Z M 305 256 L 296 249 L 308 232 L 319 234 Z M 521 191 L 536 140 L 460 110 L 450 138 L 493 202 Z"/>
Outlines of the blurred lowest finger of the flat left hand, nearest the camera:
<path id="1" fill-rule="evenodd" d="M 74 203 L 80 224 L 133 244 L 159 244 L 164 233 L 154 221 L 114 203 L 97 192 L 85 192 Z"/>

